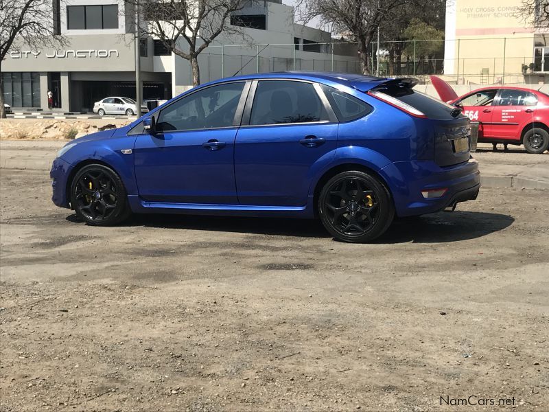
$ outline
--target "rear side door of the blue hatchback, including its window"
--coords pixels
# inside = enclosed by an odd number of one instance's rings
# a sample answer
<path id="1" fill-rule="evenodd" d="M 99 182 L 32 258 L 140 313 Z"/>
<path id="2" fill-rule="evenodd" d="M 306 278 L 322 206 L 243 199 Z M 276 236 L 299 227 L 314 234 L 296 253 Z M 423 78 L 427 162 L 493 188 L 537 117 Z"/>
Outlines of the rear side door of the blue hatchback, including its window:
<path id="1" fill-rule="evenodd" d="M 336 149 L 338 137 L 319 89 L 310 82 L 257 82 L 235 145 L 240 204 L 307 204 L 311 166 Z"/>

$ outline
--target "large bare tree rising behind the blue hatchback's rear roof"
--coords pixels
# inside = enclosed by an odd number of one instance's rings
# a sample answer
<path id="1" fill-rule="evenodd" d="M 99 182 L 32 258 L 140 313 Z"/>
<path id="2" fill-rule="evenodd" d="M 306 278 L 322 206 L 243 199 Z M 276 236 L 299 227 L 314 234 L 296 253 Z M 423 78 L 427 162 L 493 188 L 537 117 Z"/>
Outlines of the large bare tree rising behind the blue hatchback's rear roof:
<path id="1" fill-rule="evenodd" d="M 390 21 L 410 0 L 301 0 L 299 16 L 303 21 L 318 17 L 333 32 L 351 34 L 357 43 L 362 73 L 369 74 L 368 56 L 377 27 Z"/>

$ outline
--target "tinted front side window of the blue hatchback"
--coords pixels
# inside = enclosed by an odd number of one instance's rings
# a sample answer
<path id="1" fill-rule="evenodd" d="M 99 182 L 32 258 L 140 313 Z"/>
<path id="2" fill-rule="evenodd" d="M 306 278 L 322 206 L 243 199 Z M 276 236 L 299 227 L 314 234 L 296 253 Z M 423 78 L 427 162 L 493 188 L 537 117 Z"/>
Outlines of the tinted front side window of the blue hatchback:
<path id="1" fill-rule="evenodd" d="M 220 84 L 192 93 L 160 112 L 158 130 L 231 127 L 244 82 Z"/>

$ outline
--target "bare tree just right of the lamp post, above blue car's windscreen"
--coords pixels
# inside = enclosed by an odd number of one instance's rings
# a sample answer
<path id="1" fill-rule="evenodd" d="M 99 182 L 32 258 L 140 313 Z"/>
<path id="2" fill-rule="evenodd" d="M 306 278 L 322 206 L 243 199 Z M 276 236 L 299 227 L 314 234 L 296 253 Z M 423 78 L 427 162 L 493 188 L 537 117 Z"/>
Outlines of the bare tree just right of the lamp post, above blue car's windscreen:
<path id="1" fill-rule="evenodd" d="M 139 0 L 126 0 L 135 5 Z M 145 0 L 141 35 L 159 39 L 176 56 L 189 61 L 193 84 L 200 84 L 198 55 L 222 32 L 242 34 L 230 22 L 232 12 L 242 9 L 240 0 Z"/>

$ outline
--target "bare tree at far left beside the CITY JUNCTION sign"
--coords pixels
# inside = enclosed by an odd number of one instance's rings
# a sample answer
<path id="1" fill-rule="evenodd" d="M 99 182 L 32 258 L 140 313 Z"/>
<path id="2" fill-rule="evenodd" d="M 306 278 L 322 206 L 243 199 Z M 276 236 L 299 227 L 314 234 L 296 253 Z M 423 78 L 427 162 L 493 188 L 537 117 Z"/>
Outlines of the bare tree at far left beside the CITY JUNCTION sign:
<path id="1" fill-rule="evenodd" d="M 0 0 L 0 72 L 8 52 L 21 46 L 33 51 L 43 45 L 64 43 L 54 36 L 51 0 Z M 4 88 L 0 78 L 0 118 L 5 119 Z"/>

